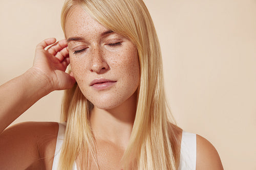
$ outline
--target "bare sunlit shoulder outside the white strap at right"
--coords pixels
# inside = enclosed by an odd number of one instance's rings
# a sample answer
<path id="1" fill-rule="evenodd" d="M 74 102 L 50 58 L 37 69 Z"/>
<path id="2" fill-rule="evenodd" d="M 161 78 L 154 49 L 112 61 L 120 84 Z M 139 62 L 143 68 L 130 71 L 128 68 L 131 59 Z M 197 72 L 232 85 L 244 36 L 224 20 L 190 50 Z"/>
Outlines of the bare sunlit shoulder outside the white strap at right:
<path id="1" fill-rule="evenodd" d="M 200 135 L 197 135 L 197 170 L 223 169 L 220 156 L 208 140 Z"/>

